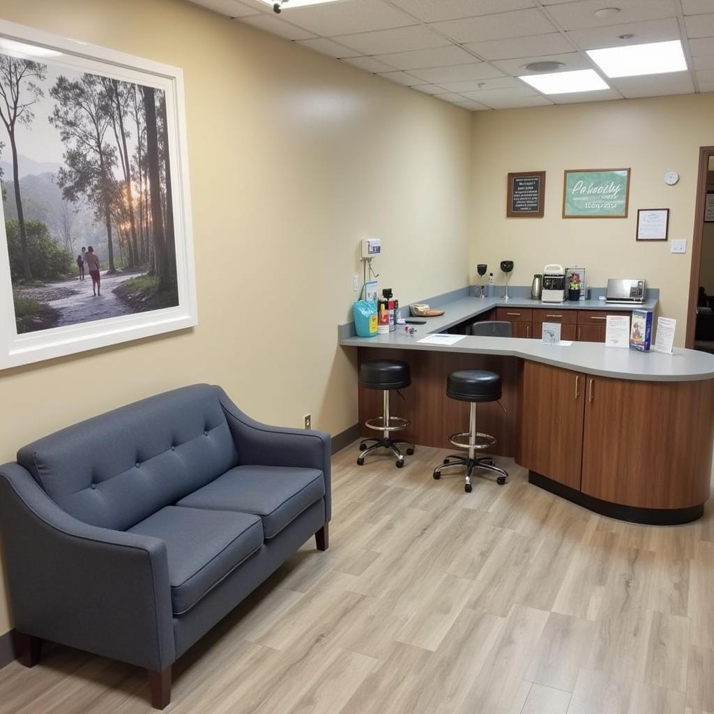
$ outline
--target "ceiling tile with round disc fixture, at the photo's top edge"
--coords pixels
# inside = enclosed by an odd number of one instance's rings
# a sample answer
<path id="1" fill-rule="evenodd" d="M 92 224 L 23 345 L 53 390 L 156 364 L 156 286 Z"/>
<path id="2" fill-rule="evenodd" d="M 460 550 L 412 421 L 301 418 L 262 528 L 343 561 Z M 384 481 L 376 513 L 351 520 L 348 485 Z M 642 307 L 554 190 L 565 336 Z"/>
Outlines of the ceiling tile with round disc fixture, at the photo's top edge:
<path id="1" fill-rule="evenodd" d="M 620 12 L 614 16 L 598 17 L 595 12 L 616 7 Z M 671 0 L 580 0 L 548 7 L 553 19 L 565 30 L 581 30 L 588 27 L 622 25 L 642 20 L 659 20 L 676 17 Z"/>

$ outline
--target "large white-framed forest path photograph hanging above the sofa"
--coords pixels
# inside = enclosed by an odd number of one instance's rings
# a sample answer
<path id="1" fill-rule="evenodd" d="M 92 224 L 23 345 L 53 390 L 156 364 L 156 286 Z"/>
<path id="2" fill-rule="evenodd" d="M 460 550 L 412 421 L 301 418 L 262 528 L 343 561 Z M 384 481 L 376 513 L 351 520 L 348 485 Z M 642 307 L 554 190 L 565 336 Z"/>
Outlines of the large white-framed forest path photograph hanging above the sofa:
<path id="1" fill-rule="evenodd" d="M 181 69 L 0 21 L 0 369 L 196 325 Z"/>

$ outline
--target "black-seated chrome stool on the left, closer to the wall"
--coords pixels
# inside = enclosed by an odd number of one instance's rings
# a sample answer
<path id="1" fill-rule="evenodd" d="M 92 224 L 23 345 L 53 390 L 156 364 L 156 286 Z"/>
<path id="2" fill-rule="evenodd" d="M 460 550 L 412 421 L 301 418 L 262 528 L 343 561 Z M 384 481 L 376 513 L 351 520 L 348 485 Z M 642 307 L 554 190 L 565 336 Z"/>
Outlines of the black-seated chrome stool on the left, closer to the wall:
<path id="1" fill-rule="evenodd" d="M 363 439 L 359 445 L 360 453 L 357 463 L 362 466 L 364 457 L 378 448 L 386 448 L 396 456 L 398 468 L 404 466 L 404 456 L 399 451 L 398 444 L 405 444 L 406 453 L 414 453 L 414 445 L 408 441 L 392 441 L 390 434 L 393 431 L 406 429 L 411 422 L 389 413 L 389 390 L 402 389 L 411 384 L 411 371 L 409 365 L 401 360 L 370 360 L 363 362 L 359 368 L 359 382 L 368 389 L 382 391 L 382 416 L 368 419 L 364 424 L 370 429 L 382 432 L 382 438 Z M 401 394 L 400 394 L 401 396 Z M 402 397 L 403 398 L 403 397 Z"/>

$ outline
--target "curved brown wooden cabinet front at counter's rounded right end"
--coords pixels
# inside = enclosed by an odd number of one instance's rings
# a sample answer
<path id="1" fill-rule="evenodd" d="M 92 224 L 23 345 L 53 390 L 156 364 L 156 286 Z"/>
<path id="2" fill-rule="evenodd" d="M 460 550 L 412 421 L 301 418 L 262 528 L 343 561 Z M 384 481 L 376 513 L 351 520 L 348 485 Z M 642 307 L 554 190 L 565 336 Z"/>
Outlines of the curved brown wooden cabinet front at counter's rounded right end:
<path id="1" fill-rule="evenodd" d="M 588 376 L 584 392 L 583 493 L 638 508 L 706 501 L 714 381 Z"/>

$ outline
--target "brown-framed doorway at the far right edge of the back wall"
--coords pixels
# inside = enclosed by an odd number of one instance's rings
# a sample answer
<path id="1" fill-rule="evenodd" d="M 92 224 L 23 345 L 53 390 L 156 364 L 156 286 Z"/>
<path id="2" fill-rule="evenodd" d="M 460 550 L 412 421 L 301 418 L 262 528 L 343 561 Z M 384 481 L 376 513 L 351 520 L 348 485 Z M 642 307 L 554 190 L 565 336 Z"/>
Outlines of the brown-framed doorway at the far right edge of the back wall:
<path id="1" fill-rule="evenodd" d="M 714 146 L 699 149 L 685 346 L 714 353 Z"/>

